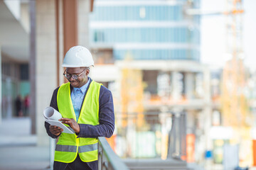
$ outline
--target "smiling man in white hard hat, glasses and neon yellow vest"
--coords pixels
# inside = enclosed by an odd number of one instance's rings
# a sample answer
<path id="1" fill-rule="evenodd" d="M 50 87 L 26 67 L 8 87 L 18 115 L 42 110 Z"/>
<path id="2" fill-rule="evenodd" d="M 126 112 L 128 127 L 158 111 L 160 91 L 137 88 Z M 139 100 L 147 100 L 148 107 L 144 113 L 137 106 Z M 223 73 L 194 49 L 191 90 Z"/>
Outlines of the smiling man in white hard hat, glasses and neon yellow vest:
<path id="1" fill-rule="evenodd" d="M 45 123 L 50 137 L 57 138 L 54 170 L 97 169 L 97 137 L 111 137 L 114 131 L 114 106 L 111 92 L 88 77 L 94 66 L 89 50 L 71 47 L 63 60 L 68 79 L 53 92 L 50 106 L 59 111 L 62 123 L 75 134 Z"/>

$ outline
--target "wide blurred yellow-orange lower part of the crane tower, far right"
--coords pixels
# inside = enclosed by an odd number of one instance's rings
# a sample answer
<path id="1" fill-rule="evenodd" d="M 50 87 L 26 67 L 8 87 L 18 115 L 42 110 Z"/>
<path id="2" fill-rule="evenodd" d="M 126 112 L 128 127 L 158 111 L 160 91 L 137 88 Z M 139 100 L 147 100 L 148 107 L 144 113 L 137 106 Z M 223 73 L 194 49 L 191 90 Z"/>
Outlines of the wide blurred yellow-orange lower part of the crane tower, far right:
<path id="1" fill-rule="evenodd" d="M 245 91 L 245 68 L 242 60 L 233 54 L 233 59 L 223 69 L 222 112 L 223 125 L 246 127 L 248 103 Z"/>

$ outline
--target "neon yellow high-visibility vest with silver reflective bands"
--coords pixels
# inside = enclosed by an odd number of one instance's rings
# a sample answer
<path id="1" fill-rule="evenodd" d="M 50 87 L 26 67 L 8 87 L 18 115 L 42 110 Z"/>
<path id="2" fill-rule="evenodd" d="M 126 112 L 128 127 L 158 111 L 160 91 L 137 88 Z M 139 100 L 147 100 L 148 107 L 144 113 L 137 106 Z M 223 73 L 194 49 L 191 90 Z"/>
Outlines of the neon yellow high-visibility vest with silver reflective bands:
<path id="1" fill-rule="evenodd" d="M 82 103 L 78 123 L 99 124 L 99 96 L 101 84 L 92 81 Z M 63 84 L 57 94 L 58 110 L 63 118 L 75 118 L 75 111 L 70 96 L 70 83 Z M 78 137 L 75 134 L 62 132 L 55 148 L 54 160 L 57 162 L 70 163 L 79 154 L 83 162 L 97 160 L 97 138 Z"/>

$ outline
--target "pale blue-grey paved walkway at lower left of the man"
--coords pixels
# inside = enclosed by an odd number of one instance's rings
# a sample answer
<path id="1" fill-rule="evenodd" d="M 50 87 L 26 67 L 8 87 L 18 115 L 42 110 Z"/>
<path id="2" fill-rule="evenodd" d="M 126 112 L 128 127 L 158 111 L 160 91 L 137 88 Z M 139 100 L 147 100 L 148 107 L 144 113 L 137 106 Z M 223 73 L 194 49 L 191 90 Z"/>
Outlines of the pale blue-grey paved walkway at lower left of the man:
<path id="1" fill-rule="evenodd" d="M 45 170 L 49 167 L 49 147 L 37 147 L 30 135 L 29 118 L 3 119 L 0 123 L 0 169 Z"/>

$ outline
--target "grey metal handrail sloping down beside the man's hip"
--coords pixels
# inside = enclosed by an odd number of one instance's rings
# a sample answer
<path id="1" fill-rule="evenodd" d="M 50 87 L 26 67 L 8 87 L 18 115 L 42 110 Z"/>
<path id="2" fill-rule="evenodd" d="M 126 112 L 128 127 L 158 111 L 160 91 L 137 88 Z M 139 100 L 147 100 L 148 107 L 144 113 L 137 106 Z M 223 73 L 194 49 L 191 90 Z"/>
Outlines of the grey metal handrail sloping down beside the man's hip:
<path id="1" fill-rule="evenodd" d="M 129 170 L 122 159 L 114 153 L 105 137 L 98 137 L 98 140 L 99 170 Z"/>

